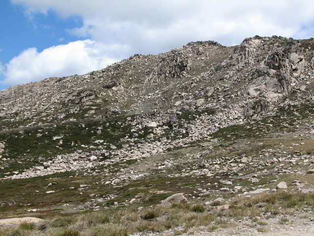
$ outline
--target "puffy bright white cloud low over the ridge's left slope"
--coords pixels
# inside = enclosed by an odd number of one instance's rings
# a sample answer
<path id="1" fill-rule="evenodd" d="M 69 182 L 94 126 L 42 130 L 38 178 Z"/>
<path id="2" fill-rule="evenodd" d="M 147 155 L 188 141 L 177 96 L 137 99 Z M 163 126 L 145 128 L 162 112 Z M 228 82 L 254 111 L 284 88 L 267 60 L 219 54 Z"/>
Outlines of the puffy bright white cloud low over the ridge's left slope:
<path id="1" fill-rule="evenodd" d="M 120 59 L 107 56 L 115 50 L 126 51 L 128 48 L 124 45 L 106 46 L 92 40 L 53 46 L 42 52 L 28 48 L 5 65 L 5 79 L 0 83 L 11 86 L 52 76 L 84 74 Z"/>

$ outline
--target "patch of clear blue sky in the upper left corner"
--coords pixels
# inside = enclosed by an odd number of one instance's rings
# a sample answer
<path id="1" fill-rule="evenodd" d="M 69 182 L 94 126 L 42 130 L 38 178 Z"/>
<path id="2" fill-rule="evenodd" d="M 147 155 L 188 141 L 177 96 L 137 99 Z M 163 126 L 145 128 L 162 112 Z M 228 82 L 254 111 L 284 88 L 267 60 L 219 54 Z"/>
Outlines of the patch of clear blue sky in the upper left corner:
<path id="1" fill-rule="evenodd" d="M 84 37 L 69 33 L 66 29 L 80 27 L 80 17 L 58 17 L 53 10 L 47 14 L 28 15 L 25 7 L 12 4 L 10 0 L 0 0 L 0 62 L 8 63 L 27 48 L 42 51 L 53 45 L 67 44 Z M 4 75 L 0 74 L 0 80 Z M 7 85 L 1 85 L 0 89 Z"/>

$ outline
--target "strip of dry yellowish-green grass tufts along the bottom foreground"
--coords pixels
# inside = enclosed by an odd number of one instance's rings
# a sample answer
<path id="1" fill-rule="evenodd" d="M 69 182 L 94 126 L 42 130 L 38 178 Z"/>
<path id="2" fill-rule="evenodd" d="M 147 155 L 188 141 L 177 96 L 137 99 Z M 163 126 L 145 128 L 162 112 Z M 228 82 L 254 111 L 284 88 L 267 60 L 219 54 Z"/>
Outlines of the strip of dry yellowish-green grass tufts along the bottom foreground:
<path id="1" fill-rule="evenodd" d="M 137 232 L 164 232 L 169 229 L 180 235 L 195 227 L 205 227 L 208 232 L 233 227 L 236 225 L 235 219 L 244 217 L 251 218 L 257 224 L 257 231 L 265 233 L 266 219 L 257 220 L 256 216 L 268 212 L 269 217 L 278 217 L 278 213 L 283 214 L 287 209 L 302 206 L 314 207 L 314 194 L 279 191 L 235 199 L 227 210 L 207 208 L 201 204 L 176 204 L 169 208 L 156 206 L 114 212 L 104 210 L 54 218 L 45 227 L 22 223 L 17 228 L 0 229 L 0 236 L 128 236 Z M 288 222 L 284 216 L 278 220 L 279 224 Z"/>

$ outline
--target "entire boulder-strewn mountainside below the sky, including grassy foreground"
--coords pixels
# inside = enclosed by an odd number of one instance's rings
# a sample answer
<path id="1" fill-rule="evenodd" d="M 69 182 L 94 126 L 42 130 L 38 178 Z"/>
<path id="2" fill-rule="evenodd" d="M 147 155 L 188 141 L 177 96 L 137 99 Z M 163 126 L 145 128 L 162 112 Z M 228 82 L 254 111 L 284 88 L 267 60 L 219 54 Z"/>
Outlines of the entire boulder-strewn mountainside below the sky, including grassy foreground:
<path id="1" fill-rule="evenodd" d="M 190 42 L 0 91 L 0 219 L 40 222 L 16 231 L 310 236 L 313 212 L 313 38 Z"/>

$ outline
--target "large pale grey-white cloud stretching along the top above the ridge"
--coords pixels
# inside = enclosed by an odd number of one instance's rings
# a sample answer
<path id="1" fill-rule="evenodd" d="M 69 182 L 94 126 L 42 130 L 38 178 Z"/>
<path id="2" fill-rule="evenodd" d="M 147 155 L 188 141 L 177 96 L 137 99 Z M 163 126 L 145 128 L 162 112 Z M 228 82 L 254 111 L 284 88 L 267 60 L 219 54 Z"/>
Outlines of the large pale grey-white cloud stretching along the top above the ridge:
<path id="1" fill-rule="evenodd" d="M 314 20 L 312 0 L 12 0 L 28 12 L 80 16 L 74 34 L 104 43 L 130 45 L 134 53 L 157 53 L 192 40 L 232 45 L 244 37 L 298 37 Z M 303 33 L 310 36 L 310 30 Z"/>

